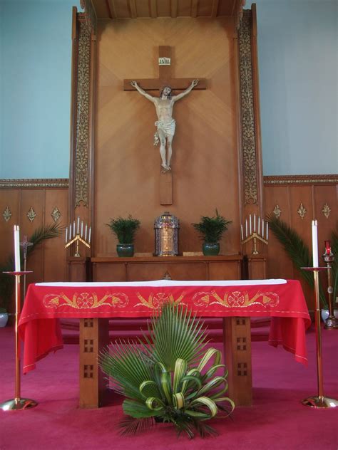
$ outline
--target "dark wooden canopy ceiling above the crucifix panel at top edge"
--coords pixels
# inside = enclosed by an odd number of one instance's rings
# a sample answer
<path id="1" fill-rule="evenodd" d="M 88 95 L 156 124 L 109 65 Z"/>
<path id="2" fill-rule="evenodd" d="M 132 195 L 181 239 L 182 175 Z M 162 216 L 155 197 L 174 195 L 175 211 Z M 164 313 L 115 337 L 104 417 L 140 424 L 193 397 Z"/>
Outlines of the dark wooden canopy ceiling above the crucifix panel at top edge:
<path id="1" fill-rule="evenodd" d="M 245 0 L 91 0 L 97 19 L 235 16 Z"/>

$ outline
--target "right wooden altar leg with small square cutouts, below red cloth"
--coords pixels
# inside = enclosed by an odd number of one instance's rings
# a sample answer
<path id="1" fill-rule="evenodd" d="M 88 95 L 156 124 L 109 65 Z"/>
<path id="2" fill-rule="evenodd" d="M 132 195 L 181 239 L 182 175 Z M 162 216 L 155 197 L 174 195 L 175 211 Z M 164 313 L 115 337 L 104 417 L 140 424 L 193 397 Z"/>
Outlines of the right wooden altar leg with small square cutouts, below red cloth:
<path id="1" fill-rule="evenodd" d="M 229 370 L 229 397 L 236 406 L 252 404 L 250 318 L 223 319 L 225 364 Z"/>

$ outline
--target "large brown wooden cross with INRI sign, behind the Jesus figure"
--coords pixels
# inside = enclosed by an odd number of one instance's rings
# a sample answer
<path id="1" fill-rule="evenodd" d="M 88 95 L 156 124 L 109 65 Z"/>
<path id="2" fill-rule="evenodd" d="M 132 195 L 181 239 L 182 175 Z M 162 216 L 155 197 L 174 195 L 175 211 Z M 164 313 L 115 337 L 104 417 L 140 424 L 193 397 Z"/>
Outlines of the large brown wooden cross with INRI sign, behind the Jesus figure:
<path id="1" fill-rule="evenodd" d="M 197 77 L 195 77 L 197 78 Z M 172 90 L 185 90 L 195 78 L 173 78 L 171 73 L 171 48 L 170 46 L 158 47 L 158 78 L 135 79 L 143 90 L 162 90 L 170 86 Z M 123 80 L 123 90 L 135 90 L 130 81 Z M 206 89 L 206 79 L 198 78 L 198 85 L 194 89 Z M 173 175 L 171 171 L 160 174 L 160 204 L 173 204 Z"/>

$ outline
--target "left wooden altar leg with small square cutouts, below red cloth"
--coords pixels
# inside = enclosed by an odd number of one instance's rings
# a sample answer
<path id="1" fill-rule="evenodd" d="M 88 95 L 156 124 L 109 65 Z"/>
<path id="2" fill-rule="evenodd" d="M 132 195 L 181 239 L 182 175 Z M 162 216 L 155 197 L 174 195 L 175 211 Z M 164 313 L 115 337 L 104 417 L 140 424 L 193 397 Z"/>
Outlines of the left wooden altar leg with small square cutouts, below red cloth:
<path id="1" fill-rule="evenodd" d="M 80 319 L 80 400 L 81 408 L 103 406 L 106 380 L 98 368 L 98 353 L 108 345 L 108 319 Z"/>

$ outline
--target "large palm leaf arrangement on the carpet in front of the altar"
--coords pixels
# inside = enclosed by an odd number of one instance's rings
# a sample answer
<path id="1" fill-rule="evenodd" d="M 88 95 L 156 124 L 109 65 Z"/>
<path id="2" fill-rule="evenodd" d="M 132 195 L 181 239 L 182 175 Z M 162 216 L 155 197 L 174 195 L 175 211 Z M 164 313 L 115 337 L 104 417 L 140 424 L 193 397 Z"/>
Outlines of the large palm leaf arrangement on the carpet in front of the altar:
<path id="1" fill-rule="evenodd" d="M 164 303 L 148 324 L 150 337 L 119 342 L 99 355 L 101 370 L 126 396 L 122 434 L 155 422 L 171 422 L 178 434 L 184 431 L 190 439 L 196 432 L 217 434 L 206 422 L 218 412 L 227 417 L 235 404 L 224 397 L 227 370 L 219 350 L 205 349 L 202 326 L 185 305 Z"/>

